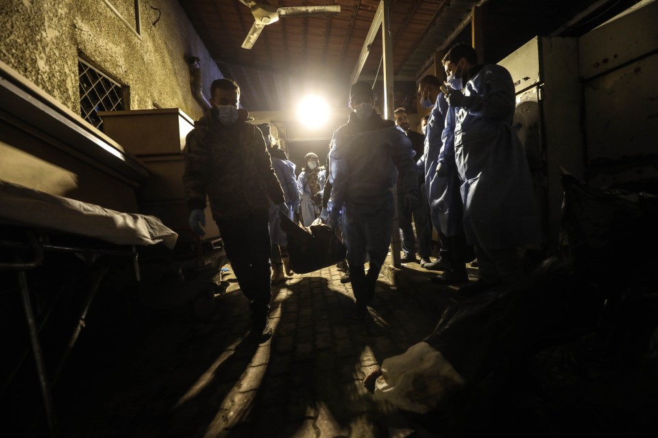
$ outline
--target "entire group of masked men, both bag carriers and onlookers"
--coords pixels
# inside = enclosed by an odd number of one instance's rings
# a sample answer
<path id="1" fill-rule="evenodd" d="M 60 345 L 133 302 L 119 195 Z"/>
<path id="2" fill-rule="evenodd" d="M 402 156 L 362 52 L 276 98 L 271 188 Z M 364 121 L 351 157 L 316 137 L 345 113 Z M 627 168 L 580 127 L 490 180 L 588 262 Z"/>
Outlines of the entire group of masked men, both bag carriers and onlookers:
<path id="1" fill-rule="evenodd" d="M 427 218 L 429 208 L 431 224 L 439 231 L 444 271 L 435 283 L 467 283 L 470 248 L 478 257 L 480 279 L 460 291 L 483 292 L 520 274 L 520 248 L 540 242 L 541 234 L 528 164 L 511 128 L 511 76 L 500 66 L 478 64 L 476 52 L 467 44 L 452 47 L 443 66 L 446 83 L 432 76 L 419 84 L 419 96 L 432 107 L 422 150 L 404 120 L 406 112 L 395 114 L 398 129 L 374 111 L 371 86 L 354 83 L 352 113 L 332 136 L 328 168 L 319 168 L 315 154 L 307 155 L 297 179 L 297 196 L 293 185 L 277 177 L 294 175 L 294 165 L 286 163 L 283 154 L 284 165 L 273 168 L 271 157 L 277 153 L 258 127 L 247 122 L 247 112 L 239 109 L 236 83 L 212 83 L 212 109 L 196 123 L 185 148 L 189 223 L 203 235 L 208 196 L 226 255 L 250 300 L 253 332 L 261 338 L 271 335 L 269 260 L 275 242 L 269 220 L 276 211 L 291 214 L 300 205 L 309 209 L 306 215 L 302 211 L 302 218 L 315 219 L 324 204 L 320 216 L 341 229 L 355 318 L 368 315 L 367 305 L 389 250 L 395 215 L 391 189 L 396 183 L 400 214 L 414 216 L 416 231 L 426 235 L 430 227 L 422 218 Z M 277 167 L 280 172 L 275 172 Z M 407 222 L 403 248 L 407 257 L 415 257 L 411 219 Z M 429 248 L 419 246 L 426 263 Z"/>

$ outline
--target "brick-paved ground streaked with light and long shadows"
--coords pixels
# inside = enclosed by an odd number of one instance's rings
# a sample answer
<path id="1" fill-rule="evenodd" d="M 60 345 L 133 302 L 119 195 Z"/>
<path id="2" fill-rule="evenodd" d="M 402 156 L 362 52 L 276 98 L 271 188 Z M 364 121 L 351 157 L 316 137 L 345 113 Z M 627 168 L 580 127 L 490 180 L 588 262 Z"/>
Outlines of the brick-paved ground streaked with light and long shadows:
<path id="1" fill-rule="evenodd" d="M 415 263 L 393 273 L 395 286 L 380 276 L 365 321 L 352 318 L 352 288 L 336 268 L 293 276 L 273 288 L 274 335 L 260 345 L 247 337 L 232 275 L 206 320 L 187 310 L 117 321 L 75 350 L 56 387 L 62 435 L 406 436 L 404 415 L 361 382 L 428 335 L 456 292 L 430 285 L 435 272 Z"/>

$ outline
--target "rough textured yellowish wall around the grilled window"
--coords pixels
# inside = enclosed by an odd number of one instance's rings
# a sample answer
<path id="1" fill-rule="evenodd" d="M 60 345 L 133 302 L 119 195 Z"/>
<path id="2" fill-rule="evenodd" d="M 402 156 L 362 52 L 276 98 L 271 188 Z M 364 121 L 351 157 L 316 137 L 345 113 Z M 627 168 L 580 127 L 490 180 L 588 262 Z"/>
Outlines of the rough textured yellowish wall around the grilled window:
<path id="1" fill-rule="evenodd" d="M 134 1 L 109 0 L 135 28 Z M 130 110 L 178 107 L 203 114 L 191 94 L 186 57 L 202 63 L 203 90 L 221 77 L 217 64 L 175 0 L 139 1 L 141 39 L 103 0 L 0 0 L 0 60 L 80 114 L 77 60 L 82 55 L 130 86 Z M 158 8 L 161 12 L 160 20 Z"/>

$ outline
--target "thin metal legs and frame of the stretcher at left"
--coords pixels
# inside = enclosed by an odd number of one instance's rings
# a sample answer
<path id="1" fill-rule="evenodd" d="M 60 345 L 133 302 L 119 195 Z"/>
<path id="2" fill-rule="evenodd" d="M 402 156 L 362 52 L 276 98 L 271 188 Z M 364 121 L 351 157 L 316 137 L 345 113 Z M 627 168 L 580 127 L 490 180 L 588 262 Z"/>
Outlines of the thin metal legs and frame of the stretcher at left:
<path id="1" fill-rule="evenodd" d="M 62 233 L 58 233 L 58 234 L 62 235 Z M 71 334 L 71 337 L 69 338 L 69 342 L 66 344 L 66 350 L 64 350 L 64 353 L 60 358 L 60 363 L 56 367 L 56 372 L 53 374 L 53 378 L 51 379 L 49 379 L 47 376 L 45 361 L 42 354 L 41 343 L 39 340 L 40 327 L 38 326 L 39 324 L 36 320 L 34 308 L 32 306 L 32 300 L 30 299 L 26 272 L 33 268 L 36 268 L 37 266 L 40 266 L 44 262 L 45 251 L 64 251 L 68 253 L 81 253 L 86 255 L 112 255 L 119 257 L 130 257 L 133 260 L 133 267 L 134 267 L 136 281 L 138 282 L 141 281 L 141 276 L 139 271 L 138 253 L 136 252 L 136 247 L 134 245 L 127 246 L 127 248 L 126 246 L 123 246 L 123 248 L 125 249 L 106 249 L 106 248 L 95 248 L 93 246 L 87 247 L 87 246 L 79 246 L 79 245 L 78 246 L 53 245 L 44 242 L 45 239 L 43 237 L 45 237 L 45 235 L 47 235 L 46 231 L 40 231 L 32 228 L 25 228 L 25 236 L 27 242 L 0 239 L 0 248 L 8 248 L 10 250 L 32 250 L 34 254 L 34 257 L 32 257 L 32 259 L 30 259 L 29 261 L 23 261 L 19 259 L 18 256 L 15 256 L 16 261 L 14 262 L 0 263 L 0 270 L 16 271 L 18 274 L 19 288 L 21 292 L 21 298 L 23 301 L 23 310 L 25 311 L 25 319 L 29 330 L 30 346 L 32 348 L 32 353 L 34 355 L 34 361 L 38 374 L 39 386 L 40 386 L 42 400 L 45 408 L 48 428 L 50 430 L 51 435 L 55 435 L 56 419 L 53 409 L 53 398 L 52 398 L 51 387 L 53 383 L 55 383 L 58 375 L 60 374 L 64 366 L 64 363 L 66 362 L 66 359 L 69 356 L 69 353 L 73 349 L 73 346 L 75 345 L 75 342 L 77 341 L 77 338 L 80 335 L 80 332 L 82 331 L 82 328 L 85 325 L 86 315 L 91 306 L 91 303 L 93 302 L 93 299 L 95 298 L 97 289 L 101 284 L 101 281 L 103 280 L 104 276 L 107 274 L 110 267 L 103 266 L 100 270 L 97 270 L 97 272 L 93 274 L 93 281 L 85 298 L 82 312 L 78 317 L 77 326 L 73 331 L 73 333 Z M 122 246 L 119 245 L 114 245 L 114 246 L 117 246 L 117 248 L 122 248 Z M 25 355 L 23 355 L 23 357 L 21 357 L 21 359 L 17 361 L 16 368 L 14 372 L 12 372 L 12 374 L 10 375 L 8 381 L 12 380 L 14 374 L 21 367 L 23 361 L 25 360 L 26 355 L 27 352 L 25 352 Z"/>

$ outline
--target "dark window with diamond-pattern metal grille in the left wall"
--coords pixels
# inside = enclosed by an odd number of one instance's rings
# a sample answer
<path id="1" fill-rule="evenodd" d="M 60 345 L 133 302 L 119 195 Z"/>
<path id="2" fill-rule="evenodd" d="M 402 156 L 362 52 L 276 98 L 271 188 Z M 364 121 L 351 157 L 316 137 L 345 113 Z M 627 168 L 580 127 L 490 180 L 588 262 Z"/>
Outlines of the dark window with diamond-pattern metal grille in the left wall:
<path id="1" fill-rule="evenodd" d="M 103 120 L 98 112 L 123 110 L 123 87 L 83 60 L 78 60 L 77 71 L 80 79 L 80 114 L 102 131 Z"/>

